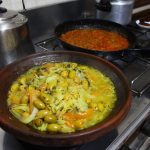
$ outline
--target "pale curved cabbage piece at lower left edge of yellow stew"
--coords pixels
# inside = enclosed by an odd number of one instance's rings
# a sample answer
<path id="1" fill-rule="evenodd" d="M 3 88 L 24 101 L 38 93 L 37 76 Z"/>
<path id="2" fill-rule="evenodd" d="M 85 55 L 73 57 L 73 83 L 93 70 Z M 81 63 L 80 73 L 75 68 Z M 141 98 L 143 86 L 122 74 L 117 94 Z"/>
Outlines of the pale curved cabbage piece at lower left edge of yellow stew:
<path id="1" fill-rule="evenodd" d="M 33 110 L 32 110 L 32 112 L 31 112 L 31 114 L 29 115 L 29 116 L 27 116 L 27 117 L 23 117 L 22 115 L 21 115 L 21 112 L 29 112 L 29 107 L 28 107 L 28 105 L 26 105 L 26 104 L 20 104 L 20 105 L 13 105 L 11 108 L 10 108 L 10 112 L 18 119 L 18 120 L 20 120 L 22 123 L 25 123 L 25 124 L 27 124 L 27 123 L 29 123 L 29 122 L 31 122 L 34 118 L 35 118 L 35 116 L 36 116 L 36 114 L 37 114 L 37 112 L 38 112 L 38 109 L 37 108 L 33 108 Z"/>

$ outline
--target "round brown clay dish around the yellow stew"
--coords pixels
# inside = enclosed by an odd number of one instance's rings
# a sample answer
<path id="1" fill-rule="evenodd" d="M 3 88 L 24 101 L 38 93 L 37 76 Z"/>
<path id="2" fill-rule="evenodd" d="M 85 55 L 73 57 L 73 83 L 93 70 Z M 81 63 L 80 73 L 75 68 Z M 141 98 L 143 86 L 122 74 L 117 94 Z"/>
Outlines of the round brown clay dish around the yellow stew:
<path id="1" fill-rule="evenodd" d="M 7 107 L 7 93 L 12 82 L 29 68 L 46 62 L 77 62 L 102 71 L 114 83 L 117 103 L 101 123 L 75 133 L 39 132 L 14 118 Z M 127 115 L 131 105 L 131 90 L 125 75 L 110 62 L 86 53 L 72 51 L 44 52 L 17 60 L 0 71 L 0 127 L 17 139 L 39 146 L 64 147 L 84 144 L 115 129 Z"/>

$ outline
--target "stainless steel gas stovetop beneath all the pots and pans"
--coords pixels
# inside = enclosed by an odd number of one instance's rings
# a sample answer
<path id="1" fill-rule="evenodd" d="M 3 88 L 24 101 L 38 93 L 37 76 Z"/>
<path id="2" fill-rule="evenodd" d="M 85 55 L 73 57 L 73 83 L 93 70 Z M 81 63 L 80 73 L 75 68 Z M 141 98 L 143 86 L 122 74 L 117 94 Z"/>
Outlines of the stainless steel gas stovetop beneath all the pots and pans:
<path id="1" fill-rule="evenodd" d="M 138 48 L 150 48 L 150 30 L 143 30 L 135 25 L 128 26 L 137 36 Z M 36 52 L 63 50 L 54 34 L 42 36 L 35 42 Z M 130 137 L 141 128 L 141 125 L 150 115 L 150 54 L 131 52 L 122 54 L 119 57 L 105 56 L 106 59 L 119 67 L 127 76 L 131 83 L 133 99 L 131 109 L 124 121 L 117 127 L 113 135 L 103 137 L 106 139 L 105 148 L 107 150 L 131 149 L 147 150 L 150 146 L 150 137 L 141 130 L 133 140 Z M 100 56 L 103 57 L 103 56 Z M 25 150 L 26 148 L 13 136 L 0 130 L 0 150 Z M 71 150 L 99 150 L 104 141 L 98 139 L 94 142 L 71 148 Z M 45 149 L 43 149 L 45 150 Z"/>

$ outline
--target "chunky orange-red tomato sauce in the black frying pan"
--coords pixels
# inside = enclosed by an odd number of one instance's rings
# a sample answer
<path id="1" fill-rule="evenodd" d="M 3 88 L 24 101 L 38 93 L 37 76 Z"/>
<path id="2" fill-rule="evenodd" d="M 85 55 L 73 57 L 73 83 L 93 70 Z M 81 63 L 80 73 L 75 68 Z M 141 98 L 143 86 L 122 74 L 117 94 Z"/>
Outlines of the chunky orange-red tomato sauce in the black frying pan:
<path id="1" fill-rule="evenodd" d="M 60 39 L 89 50 L 118 51 L 129 47 L 128 40 L 122 35 L 101 29 L 75 29 L 62 34 Z"/>

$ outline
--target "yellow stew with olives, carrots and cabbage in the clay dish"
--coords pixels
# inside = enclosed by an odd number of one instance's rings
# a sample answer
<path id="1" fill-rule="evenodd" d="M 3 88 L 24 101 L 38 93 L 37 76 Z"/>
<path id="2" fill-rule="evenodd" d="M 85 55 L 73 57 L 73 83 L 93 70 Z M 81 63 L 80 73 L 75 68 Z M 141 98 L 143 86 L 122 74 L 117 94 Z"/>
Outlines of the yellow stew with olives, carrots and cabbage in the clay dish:
<path id="1" fill-rule="evenodd" d="M 109 77 L 73 62 L 29 69 L 13 82 L 7 99 L 10 112 L 22 123 L 40 131 L 62 133 L 103 121 L 116 101 Z"/>

